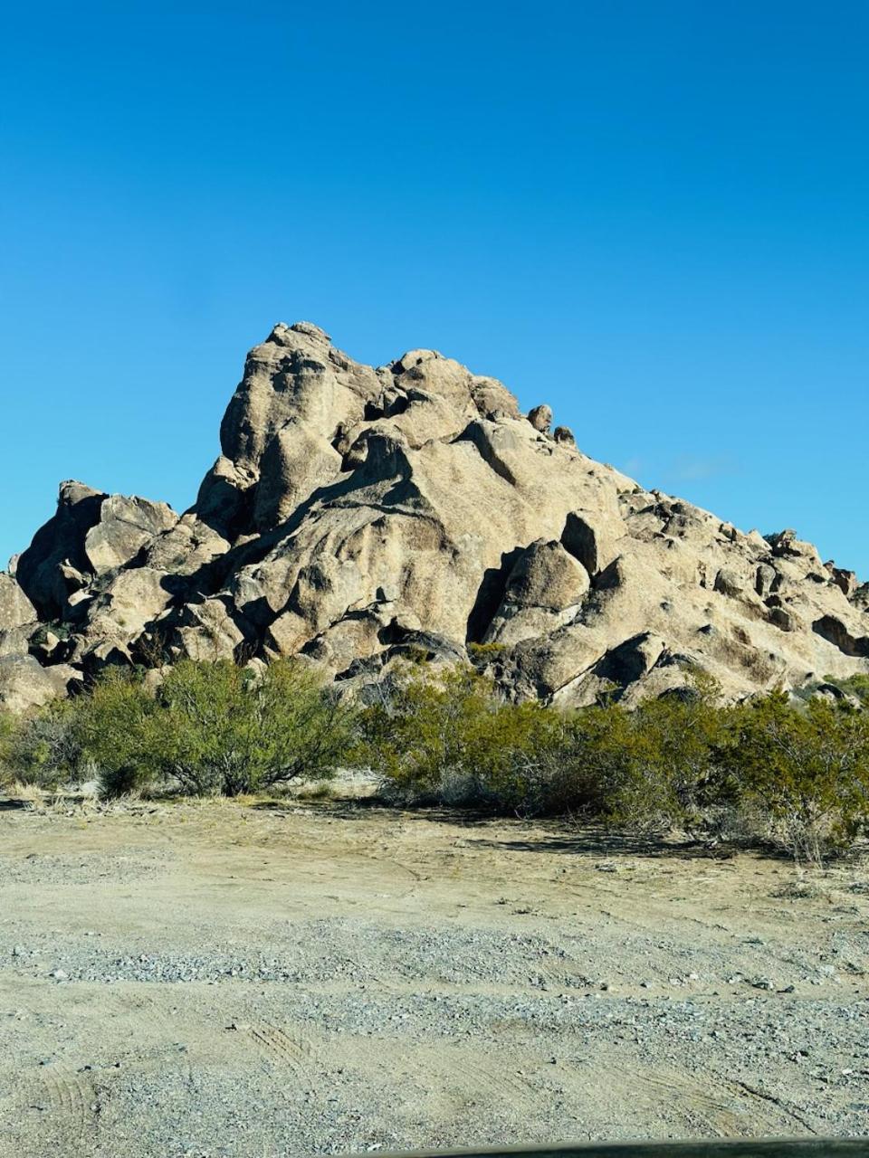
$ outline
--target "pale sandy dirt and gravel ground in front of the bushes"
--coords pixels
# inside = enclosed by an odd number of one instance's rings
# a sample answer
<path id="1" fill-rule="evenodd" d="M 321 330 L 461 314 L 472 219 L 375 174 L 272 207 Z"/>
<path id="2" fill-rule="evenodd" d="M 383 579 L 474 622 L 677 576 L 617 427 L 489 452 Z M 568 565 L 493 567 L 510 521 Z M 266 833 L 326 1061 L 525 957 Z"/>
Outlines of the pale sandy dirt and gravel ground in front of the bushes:
<path id="1" fill-rule="evenodd" d="M 0 799 L 2 1158 L 869 1134 L 869 873 Z"/>

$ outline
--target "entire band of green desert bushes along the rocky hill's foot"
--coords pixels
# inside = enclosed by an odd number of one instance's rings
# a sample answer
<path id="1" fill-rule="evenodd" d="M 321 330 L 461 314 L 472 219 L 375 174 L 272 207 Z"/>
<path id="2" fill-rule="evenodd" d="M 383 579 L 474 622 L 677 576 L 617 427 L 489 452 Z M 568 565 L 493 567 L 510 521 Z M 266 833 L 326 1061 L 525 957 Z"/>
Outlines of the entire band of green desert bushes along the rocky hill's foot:
<path id="1" fill-rule="evenodd" d="M 832 682 L 832 681 L 827 681 Z M 818 863 L 869 829 L 869 680 L 842 695 L 720 704 L 702 673 L 633 711 L 510 703 L 472 665 L 394 670 L 379 699 L 341 702 L 307 666 L 184 660 L 154 688 L 114 669 L 88 691 L 0 719 L 7 779 L 96 777 L 107 796 L 236 797 L 367 767 L 381 797 L 739 840 Z"/>

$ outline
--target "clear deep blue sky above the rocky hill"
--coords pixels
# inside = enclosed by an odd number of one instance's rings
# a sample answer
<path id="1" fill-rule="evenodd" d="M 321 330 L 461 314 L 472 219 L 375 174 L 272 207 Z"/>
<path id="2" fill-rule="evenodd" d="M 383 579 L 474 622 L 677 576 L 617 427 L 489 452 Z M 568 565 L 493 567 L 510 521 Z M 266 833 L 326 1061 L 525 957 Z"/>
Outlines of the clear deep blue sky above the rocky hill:
<path id="1" fill-rule="evenodd" d="M 3 6 L 0 562 L 183 508 L 246 350 L 434 346 L 869 578 L 869 5 Z"/>

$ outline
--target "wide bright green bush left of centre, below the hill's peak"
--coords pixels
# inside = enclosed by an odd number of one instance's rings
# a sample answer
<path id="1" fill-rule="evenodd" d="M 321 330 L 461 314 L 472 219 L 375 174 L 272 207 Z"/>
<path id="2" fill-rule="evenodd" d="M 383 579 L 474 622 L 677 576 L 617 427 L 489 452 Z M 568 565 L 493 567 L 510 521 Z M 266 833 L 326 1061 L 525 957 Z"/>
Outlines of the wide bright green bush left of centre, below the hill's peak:
<path id="1" fill-rule="evenodd" d="M 355 739 L 352 710 L 308 668 L 283 660 L 262 674 L 183 660 L 154 696 L 111 675 L 83 699 L 80 735 L 109 794 L 165 784 L 239 796 L 323 778 Z"/>

